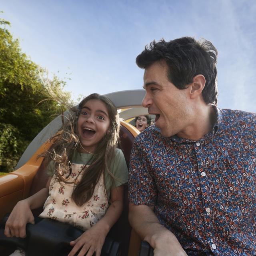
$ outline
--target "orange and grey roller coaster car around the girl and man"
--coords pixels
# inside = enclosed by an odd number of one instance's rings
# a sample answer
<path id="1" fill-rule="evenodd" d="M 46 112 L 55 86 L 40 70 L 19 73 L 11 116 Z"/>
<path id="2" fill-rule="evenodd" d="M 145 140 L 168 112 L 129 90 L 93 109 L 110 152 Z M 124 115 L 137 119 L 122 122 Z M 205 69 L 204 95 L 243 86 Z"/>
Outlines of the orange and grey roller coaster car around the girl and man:
<path id="1" fill-rule="evenodd" d="M 106 94 L 106 96 L 108 96 L 110 100 L 114 102 L 118 109 L 128 108 L 127 110 L 120 112 L 120 117 L 124 120 L 138 115 L 147 114 L 147 110 L 141 108 L 144 90 L 115 92 Z M 2 219 L 6 213 L 11 212 L 12 208 L 18 201 L 31 196 L 45 187 L 48 179 L 45 172 L 46 166 L 44 164 L 44 159 L 42 157 L 38 158 L 38 155 L 49 148 L 50 144 L 47 142 L 48 138 L 58 131 L 60 125 L 60 117 L 54 119 L 50 124 L 48 124 L 48 126 L 46 126 L 36 136 L 36 138 L 34 138 L 34 140 L 25 150 L 16 166 L 17 169 L 14 172 L 10 172 L 9 174 L 0 177 L 0 219 Z M 121 121 L 119 148 L 121 148 L 124 153 L 127 165 L 129 164 L 130 152 L 134 138 L 138 135 L 138 133 L 139 131 L 134 128 L 134 126 Z M 36 216 L 40 212 L 42 212 L 42 209 L 36 209 L 33 213 Z M 138 255 L 141 241 L 138 235 L 131 230 L 128 222 L 127 187 L 125 188 L 124 194 L 124 210 L 119 220 L 110 230 L 108 236 L 113 238 L 114 241 L 120 242 L 119 255 Z M 6 247 L 6 245 L 8 245 L 8 242 L 0 242 L 1 256 L 9 255 L 13 251 L 13 249 L 10 250 L 10 248 Z M 113 244 L 111 246 L 113 246 Z M 106 250 L 109 250 L 109 248 L 106 248 Z M 34 255 L 39 254 L 34 252 Z M 65 254 L 61 254 L 59 251 L 54 255 Z"/>

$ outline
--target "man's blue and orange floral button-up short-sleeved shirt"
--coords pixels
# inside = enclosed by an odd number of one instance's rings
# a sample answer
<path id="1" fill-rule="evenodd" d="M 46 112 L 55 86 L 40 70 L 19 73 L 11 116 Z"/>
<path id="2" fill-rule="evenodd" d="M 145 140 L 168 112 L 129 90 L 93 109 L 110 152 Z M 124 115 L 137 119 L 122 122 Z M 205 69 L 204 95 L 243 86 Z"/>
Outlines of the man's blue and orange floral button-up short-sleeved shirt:
<path id="1" fill-rule="evenodd" d="M 154 205 L 188 255 L 256 255 L 256 114 L 215 110 L 198 141 L 154 125 L 137 136 L 130 202 Z"/>

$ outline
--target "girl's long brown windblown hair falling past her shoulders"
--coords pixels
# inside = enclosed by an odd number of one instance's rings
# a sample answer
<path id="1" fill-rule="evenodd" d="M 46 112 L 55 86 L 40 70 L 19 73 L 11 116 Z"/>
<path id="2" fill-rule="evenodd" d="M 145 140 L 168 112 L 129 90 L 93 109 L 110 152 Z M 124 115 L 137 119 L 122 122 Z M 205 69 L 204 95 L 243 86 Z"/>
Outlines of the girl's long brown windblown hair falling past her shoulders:
<path id="1" fill-rule="evenodd" d="M 110 126 L 105 136 L 96 146 L 96 150 L 90 160 L 90 166 L 83 172 L 80 182 L 75 186 L 72 193 L 74 202 L 82 206 L 90 200 L 94 188 L 98 183 L 100 176 L 106 170 L 112 178 L 115 178 L 110 172 L 111 159 L 114 156 L 114 150 L 119 140 L 120 122 L 118 112 L 114 104 L 106 96 L 100 94 L 90 94 L 84 98 L 78 108 L 72 108 L 74 114 L 69 114 L 66 122 L 63 122 L 60 131 L 50 138 L 52 146 L 42 154 L 46 161 L 54 161 L 54 174 L 61 181 L 68 182 L 68 174 L 71 174 L 70 161 L 74 150 L 80 148 L 79 136 L 77 132 L 77 121 L 81 109 L 89 100 L 101 100 L 108 109 Z"/>

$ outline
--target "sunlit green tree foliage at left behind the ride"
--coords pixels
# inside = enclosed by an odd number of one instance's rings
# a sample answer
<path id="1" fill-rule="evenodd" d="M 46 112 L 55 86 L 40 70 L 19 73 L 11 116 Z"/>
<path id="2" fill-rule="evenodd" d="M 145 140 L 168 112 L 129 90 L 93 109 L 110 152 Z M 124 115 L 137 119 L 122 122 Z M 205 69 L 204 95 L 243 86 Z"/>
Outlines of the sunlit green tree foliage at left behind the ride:
<path id="1" fill-rule="evenodd" d="M 8 21 L 0 19 L 1 172 L 14 170 L 28 144 L 61 113 L 58 102 L 44 101 L 49 97 L 46 71 L 22 53 L 19 41 L 12 37 L 8 26 Z M 62 99 L 68 101 L 70 94 L 63 92 L 64 85 L 65 82 L 54 77 L 50 90 L 61 93 Z"/>

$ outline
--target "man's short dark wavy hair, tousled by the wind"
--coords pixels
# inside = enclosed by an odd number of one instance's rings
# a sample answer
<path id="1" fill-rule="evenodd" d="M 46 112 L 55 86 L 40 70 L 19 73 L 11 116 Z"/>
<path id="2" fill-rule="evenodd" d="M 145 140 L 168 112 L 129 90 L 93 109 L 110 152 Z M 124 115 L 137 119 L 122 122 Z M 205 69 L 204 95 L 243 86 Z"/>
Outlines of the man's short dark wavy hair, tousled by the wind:
<path id="1" fill-rule="evenodd" d="M 154 62 L 165 60 L 168 65 L 167 77 L 178 89 L 186 88 L 194 76 L 202 74 L 206 80 L 202 95 L 207 104 L 216 105 L 217 56 L 214 45 L 205 39 L 196 41 L 192 37 L 182 37 L 166 42 L 164 39 L 152 41 L 136 58 L 140 68 L 148 68 Z"/>

